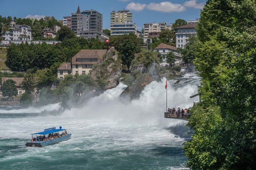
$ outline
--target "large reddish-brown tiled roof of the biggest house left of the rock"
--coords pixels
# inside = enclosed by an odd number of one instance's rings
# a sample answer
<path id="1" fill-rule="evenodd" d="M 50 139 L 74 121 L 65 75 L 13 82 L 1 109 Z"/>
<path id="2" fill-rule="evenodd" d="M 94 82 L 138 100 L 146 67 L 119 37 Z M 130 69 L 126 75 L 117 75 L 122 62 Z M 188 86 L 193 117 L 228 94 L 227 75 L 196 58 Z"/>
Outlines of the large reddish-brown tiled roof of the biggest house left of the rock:
<path id="1" fill-rule="evenodd" d="M 80 50 L 74 57 L 72 57 L 72 64 L 97 64 L 98 62 L 77 62 L 76 59 L 97 59 L 103 58 L 107 50 Z"/>

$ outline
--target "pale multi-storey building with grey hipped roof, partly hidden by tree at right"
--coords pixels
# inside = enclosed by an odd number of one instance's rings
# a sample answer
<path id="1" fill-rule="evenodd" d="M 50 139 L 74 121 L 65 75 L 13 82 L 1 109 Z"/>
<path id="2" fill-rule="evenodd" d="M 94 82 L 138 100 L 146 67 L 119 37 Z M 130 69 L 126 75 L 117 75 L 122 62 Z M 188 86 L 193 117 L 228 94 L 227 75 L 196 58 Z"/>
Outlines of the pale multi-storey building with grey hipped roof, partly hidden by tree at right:
<path id="1" fill-rule="evenodd" d="M 188 43 L 186 39 L 188 39 L 189 36 L 197 36 L 195 26 L 196 24 L 187 24 L 175 28 L 177 30 L 177 32 L 175 33 L 177 48 L 184 48 L 186 43 Z"/>

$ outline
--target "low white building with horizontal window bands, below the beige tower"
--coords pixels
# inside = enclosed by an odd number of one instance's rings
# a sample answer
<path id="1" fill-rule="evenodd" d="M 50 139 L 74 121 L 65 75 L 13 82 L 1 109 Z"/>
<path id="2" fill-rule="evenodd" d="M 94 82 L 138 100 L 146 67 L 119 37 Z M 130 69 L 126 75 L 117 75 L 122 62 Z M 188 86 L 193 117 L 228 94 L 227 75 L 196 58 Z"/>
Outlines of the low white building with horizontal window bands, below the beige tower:
<path id="1" fill-rule="evenodd" d="M 123 24 L 112 24 L 111 26 L 111 36 L 113 37 L 130 33 L 137 34 L 137 26 L 135 23 L 128 22 Z"/>

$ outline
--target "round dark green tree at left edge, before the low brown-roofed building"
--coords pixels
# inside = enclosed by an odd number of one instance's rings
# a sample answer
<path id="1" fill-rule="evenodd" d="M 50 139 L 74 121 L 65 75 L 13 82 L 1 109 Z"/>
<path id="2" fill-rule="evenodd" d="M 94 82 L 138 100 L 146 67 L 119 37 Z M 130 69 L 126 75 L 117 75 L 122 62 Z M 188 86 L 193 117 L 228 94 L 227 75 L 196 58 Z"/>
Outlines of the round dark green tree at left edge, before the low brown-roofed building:
<path id="1" fill-rule="evenodd" d="M 3 96 L 16 96 L 18 94 L 17 87 L 15 85 L 15 81 L 12 79 L 7 79 L 5 82 L 3 82 L 3 85 L 1 86 L 1 90 L 3 92 Z"/>

